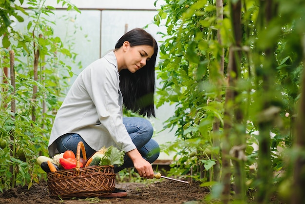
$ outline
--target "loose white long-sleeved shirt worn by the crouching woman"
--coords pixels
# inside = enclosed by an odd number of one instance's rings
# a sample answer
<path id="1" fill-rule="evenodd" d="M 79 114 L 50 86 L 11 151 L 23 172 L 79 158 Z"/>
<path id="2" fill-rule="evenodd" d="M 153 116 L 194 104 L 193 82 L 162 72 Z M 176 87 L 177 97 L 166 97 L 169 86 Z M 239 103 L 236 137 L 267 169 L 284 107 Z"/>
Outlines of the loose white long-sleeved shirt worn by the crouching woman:
<path id="1" fill-rule="evenodd" d="M 55 141 L 66 133 L 79 134 L 96 151 L 111 145 L 125 152 L 135 149 L 123 124 L 122 105 L 117 61 L 112 51 L 76 78 L 57 112 L 49 155 L 58 152 Z"/>

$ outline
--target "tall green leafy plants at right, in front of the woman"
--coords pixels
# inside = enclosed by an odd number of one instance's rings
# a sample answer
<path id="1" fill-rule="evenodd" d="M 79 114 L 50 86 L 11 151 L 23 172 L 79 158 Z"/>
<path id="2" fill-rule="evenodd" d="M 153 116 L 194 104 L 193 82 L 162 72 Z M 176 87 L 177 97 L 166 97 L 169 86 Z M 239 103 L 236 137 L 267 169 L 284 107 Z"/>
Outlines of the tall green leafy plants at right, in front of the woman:
<path id="1" fill-rule="evenodd" d="M 177 168 L 172 168 L 172 175 L 190 173 L 192 167 L 193 178 L 200 179 L 203 185 L 215 184 L 212 170 L 216 162 L 221 166 L 221 157 L 224 156 L 221 151 L 225 143 L 224 104 L 225 91 L 229 88 L 236 91 L 238 96 L 227 105 L 232 110 L 239 108 L 243 116 L 242 122 L 233 120 L 230 123 L 229 146 L 240 146 L 237 141 L 245 145 L 247 161 L 243 167 L 246 174 L 243 183 L 247 184 L 246 190 L 262 188 L 266 194 L 283 191 L 282 187 L 292 173 L 288 168 L 292 161 L 287 158 L 294 139 L 296 104 L 300 97 L 303 72 L 305 18 L 302 11 L 305 3 L 301 0 L 242 0 L 242 42 L 241 47 L 234 47 L 232 16 L 238 0 L 223 1 L 223 20 L 217 18 L 215 0 L 165 2 L 155 16 L 155 23 L 167 28 L 166 33 L 160 33 L 164 41 L 160 47 L 161 61 L 158 65 L 158 79 L 162 88 L 157 90 L 157 107 L 168 102 L 176 107 L 175 114 L 164 126 L 177 128 L 177 140 L 167 148 L 177 153 L 177 160 L 172 164 Z M 265 20 L 270 16 L 264 10 L 267 3 L 271 4 L 275 13 L 275 17 L 269 21 Z M 217 41 L 217 29 L 220 30 L 222 44 Z M 274 52 L 266 57 L 272 47 Z M 222 48 L 225 49 L 223 73 L 219 72 Z M 228 73 L 229 49 L 234 48 L 242 51 L 242 57 L 238 59 L 240 67 L 238 73 Z M 238 76 L 234 87 L 228 87 L 229 75 Z M 263 78 L 266 75 L 270 76 L 268 81 Z M 269 92 L 264 89 L 266 83 L 270 83 Z M 220 120 L 219 131 L 213 131 L 215 118 Z M 262 123 L 268 125 L 266 134 L 259 127 Z M 270 132 L 273 137 L 269 136 Z M 266 157 L 266 166 L 276 175 L 279 170 L 286 170 L 285 176 L 274 178 L 272 172 L 271 175 L 266 172 L 269 182 L 276 184 L 272 187 L 257 175 L 257 162 L 264 156 L 258 157 L 259 152 L 253 149 L 253 144 L 258 144 L 262 138 L 264 141 L 266 137 L 271 155 L 270 160 Z M 215 138 L 220 138 L 218 147 L 212 145 Z M 281 148 L 284 150 L 279 152 Z M 216 159 L 206 153 L 210 150 Z M 234 160 L 233 157 L 231 159 Z M 234 172 L 233 166 L 230 171 Z M 232 182 L 235 180 L 234 174 L 231 179 Z M 261 184 L 266 184 L 266 187 Z M 221 190 L 216 187 L 214 190 L 218 190 L 215 195 L 219 198 Z"/>

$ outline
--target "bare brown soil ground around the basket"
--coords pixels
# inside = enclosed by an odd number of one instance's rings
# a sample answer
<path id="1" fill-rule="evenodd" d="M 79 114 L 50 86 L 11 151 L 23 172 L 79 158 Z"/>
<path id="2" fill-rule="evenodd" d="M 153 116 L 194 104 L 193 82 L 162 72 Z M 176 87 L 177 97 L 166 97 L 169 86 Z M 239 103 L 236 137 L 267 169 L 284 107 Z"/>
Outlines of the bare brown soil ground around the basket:
<path id="1" fill-rule="evenodd" d="M 3 191 L 0 193 L 0 204 L 183 204 L 188 201 L 199 203 L 205 195 L 209 194 L 209 189 L 199 187 L 199 183 L 192 183 L 190 186 L 170 180 L 158 180 L 151 184 L 120 183 L 115 184 L 115 187 L 126 190 L 127 197 L 61 201 L 50 198 L 47 183 L 42 182 L 33 184 L 30 189 L 27 189 L 27 186 L 18 186 Z"/>

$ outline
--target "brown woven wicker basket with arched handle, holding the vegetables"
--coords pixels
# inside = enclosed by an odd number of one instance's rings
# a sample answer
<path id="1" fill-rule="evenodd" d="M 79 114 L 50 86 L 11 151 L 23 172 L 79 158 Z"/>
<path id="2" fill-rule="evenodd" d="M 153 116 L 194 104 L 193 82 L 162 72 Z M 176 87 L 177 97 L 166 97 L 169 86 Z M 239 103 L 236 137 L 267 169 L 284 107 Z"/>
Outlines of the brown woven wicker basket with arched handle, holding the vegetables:
<path id="1" fill-rule="evenodd" d="M 82 142 L 77 145 L 76 168 L 47 173 L 50 197 L 99 197 L 109 195 L 114 190 L 114 166 L 80 168 L 80 150 L 82 150 L 83 158 L 86 160 L 86 152 Z"/>

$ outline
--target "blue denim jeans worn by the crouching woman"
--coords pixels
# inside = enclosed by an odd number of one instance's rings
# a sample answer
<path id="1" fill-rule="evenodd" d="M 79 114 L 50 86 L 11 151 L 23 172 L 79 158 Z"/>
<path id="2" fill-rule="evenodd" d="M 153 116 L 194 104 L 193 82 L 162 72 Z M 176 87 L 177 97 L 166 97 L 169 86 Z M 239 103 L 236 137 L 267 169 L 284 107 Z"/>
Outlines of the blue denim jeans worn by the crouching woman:
<path id="1" fill-rule="evenodd" d="M 159 144 L 152 139 L 153 127 L 151 122 L 144 118 L 129 117 L 123 118 L 123 123 L 134 145 L 136 146 L 142 157 L 149 163 L 153 163 L 159 157 L 160 148 Z M 71 150 L 76 154 L 76 147 L 79 141 L 82 141 L 84 143 L 88 158 L 95 153 L 95 150 L 92 149 L 81 138 L 81 136 L 76 133 L 68 133 L 58 138 L 57 149 L 59 152 Z M 125 154 L 123 165 L 114 165 L 114 171 L 116 173 L 124 168 L 132 167 L 132 160 Z"/>

